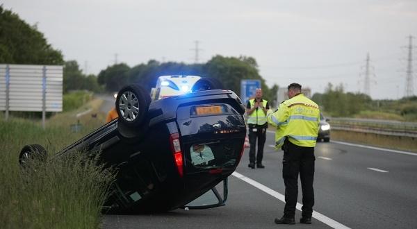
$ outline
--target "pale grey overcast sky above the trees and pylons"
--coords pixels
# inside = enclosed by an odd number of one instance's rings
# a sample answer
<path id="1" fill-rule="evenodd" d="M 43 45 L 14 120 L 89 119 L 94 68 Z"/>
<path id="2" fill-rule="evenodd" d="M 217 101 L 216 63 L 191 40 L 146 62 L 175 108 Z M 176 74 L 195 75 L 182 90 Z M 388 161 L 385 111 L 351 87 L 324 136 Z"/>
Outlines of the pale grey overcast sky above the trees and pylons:
<path id="1" fill-rule="evenodd" d="M 297 82 L 315 93 L 332 83 L 363 92 L 369 53 L 373 99 L 404 95 L 402 46 L 417 36 L 413 0 L 6 0 L 3 7 L 37 24 L 65 60 L 77 60 L 88 74 L 112 65 L 115 53 L 131 67 L 149 59 L 192 63 L 198 40 L 200 62 L 252 56 L 268 85 Z"/>

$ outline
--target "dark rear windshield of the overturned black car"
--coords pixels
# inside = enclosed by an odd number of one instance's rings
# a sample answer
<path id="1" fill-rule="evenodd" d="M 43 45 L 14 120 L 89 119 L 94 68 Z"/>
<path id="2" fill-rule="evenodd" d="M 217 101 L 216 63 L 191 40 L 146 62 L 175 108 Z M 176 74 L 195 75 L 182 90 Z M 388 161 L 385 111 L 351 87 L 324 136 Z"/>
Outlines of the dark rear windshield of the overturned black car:
<path id="1" fill-rule="evenodd" d="M 236 162 L 241 148 L 240 142 L 233 139 L 188 144 L 186 164 L 191 171 L 234 167 L 237 165 Z"/>

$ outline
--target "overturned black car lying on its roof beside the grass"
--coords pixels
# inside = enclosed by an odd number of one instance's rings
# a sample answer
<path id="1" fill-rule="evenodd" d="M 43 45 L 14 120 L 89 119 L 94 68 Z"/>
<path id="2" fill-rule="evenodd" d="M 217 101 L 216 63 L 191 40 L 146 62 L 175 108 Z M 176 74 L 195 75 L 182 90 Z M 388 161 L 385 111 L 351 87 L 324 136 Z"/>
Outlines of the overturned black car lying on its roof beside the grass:
<path id="1" fill-rule="evenodd" d="M 152 101 L 140 85 L 127 85 L 116 99 L 119 118 L 58 152 L 101 150 L 117 167 L 115 189 L 106 207 L 115 213 L 159 212 L 178 207 L 224 205 L 215 189 L 238 166 L 243 153 L 245 107 L 238 96 L 201 78 L 191 92 Z M 24 146 L 19 162 L 40 145 Z M 200 197 L 201 196 L 201 197 Z"/>

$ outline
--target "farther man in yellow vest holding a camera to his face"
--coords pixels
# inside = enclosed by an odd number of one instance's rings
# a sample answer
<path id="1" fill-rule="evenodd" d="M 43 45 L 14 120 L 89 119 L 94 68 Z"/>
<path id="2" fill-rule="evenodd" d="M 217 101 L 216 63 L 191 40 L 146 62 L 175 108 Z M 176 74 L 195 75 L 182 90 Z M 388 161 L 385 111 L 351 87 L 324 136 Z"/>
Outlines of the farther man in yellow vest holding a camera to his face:
<path id="1" fill-rule="evenodd" d="M 256 89 L 256 94 L 254 99 L 247 101 L 247 125 L 249 126 L 249 164 L 248 167 L 254 169 L 255 162 L 256 167 L 263 169 L 265 166 L 262 164 L 263 158 L 263 145 L 265 144 L 266 139 L 266 128 L 268 127 L 268 122 L 266 121 L 266 114 L 269 109 L 268 101 L 262 99 L 262 90 L 260 88 Z M 255 161 L 255 151 L 256 151 L 256 138 L 258 139 L 258 153 L 256 154 Z"/>

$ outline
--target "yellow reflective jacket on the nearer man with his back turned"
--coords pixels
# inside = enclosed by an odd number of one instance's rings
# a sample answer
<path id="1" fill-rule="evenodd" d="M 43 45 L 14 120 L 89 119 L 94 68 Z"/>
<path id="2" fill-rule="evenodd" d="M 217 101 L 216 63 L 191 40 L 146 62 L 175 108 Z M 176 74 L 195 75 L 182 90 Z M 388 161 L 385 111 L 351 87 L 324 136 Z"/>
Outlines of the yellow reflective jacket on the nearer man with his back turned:
<path id="1" fill-rule="evenodd" d="M 304 94 L 284 101 L 276 112 L 268 112 L 268 122 L 277 126 L 276 149 L 284 144 L 286 137 L 297 146 L 316 146 L 320 110 L 318 105 Z"/>

